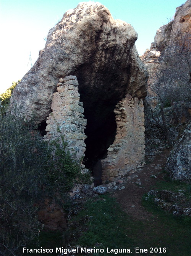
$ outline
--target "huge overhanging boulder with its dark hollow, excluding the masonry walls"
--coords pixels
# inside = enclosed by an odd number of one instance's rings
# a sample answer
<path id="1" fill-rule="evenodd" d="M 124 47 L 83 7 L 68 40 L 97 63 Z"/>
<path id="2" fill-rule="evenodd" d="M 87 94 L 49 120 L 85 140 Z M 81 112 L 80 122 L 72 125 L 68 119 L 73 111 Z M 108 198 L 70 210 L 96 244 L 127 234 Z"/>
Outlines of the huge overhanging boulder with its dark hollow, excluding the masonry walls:
<path id="1" fill-rule="evenodd" d="M 10 106 L 16 103 L 28 119 L 35 112 L 37 124 L 45 122 L 51 112 L 58 80 L 75 75 L 87 119 L 86 165 L 93 167 L 98 160 L 107 157 L 107 149 L 115 140 L 115 105 L 128 94 L 132 106 L 139 109 L 138 104 L 146 96 L 147 73 L 134 45 L 136 39 L 133 27 L 114 20 L 100 3 L 80 3 L 74 10 L 66 12 L 49 31 L 44 50 L 39 52 L 34 66 L 16 86 Z M 126 108 L 132 109 L 130 105 L 127 103 Z M 142 114 L 140 118 L 143 118 Z M 125 143 L 132 144 L 130 138 L 136 135 L 131 133 L 128 137 L 128 126 L 138 125 L 138 120 L 136 124 L 133 119 L 124 122 L 127 122 Z M 140 127 L 144 120 L 141 122 Z M 139 130 L 139 127 L 135 128 Z M 143 144 L 144 135 L 141 137 Z M 138 145 L 130 156 L 131 165 L 125 167 L 128 170 L 144 159 L 143 148 L 137 148 Z M 135 160 L 133 154 L 137 156 Z M 124 164 L 121 165 L 124 169 Z"/>

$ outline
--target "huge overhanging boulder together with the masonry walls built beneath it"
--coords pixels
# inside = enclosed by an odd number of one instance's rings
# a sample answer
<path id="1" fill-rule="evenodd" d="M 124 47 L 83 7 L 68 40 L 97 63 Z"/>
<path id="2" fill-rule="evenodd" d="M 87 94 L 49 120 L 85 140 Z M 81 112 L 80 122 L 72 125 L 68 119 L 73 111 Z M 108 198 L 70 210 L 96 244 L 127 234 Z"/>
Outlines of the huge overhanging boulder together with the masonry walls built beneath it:
<path id="1" fill-rule="evenodd" d="M 132 154 L 125 153 L 125 162 L 120 150 L 115 161 L 118 171 L 120 157 L 121 170 L 134 168 L 144 158 L 142 98 L 146 96 L 147 82 L 146 68 L 134 45 L 136 39 L 133 27 L 124 21 L 114 20 L 104 5 L 79 3 L 49 31 L 44 50 L 39 52 L 34 66 L 16 86 L 10 106 L 16 102 L 28 119 L 35 112 L 37 124 L 45 122 L 48 117 L 45 139 L 57 137 L 55 124 L 59 123 L 71 144 L 70 150 L 74 150 L 79 158 L 83 157 L 86 144 L 84 164 L 91 170 L 101 159 L 106 159 L 104 163 L 110 161 L 107 149 L 114 140 L 116 144 L 123 144 L 122 151 L 128 140 L 128 150 L 131 150 L 130 144 L 136 143 L 132 145 Z M 78 90 L 72 82 L 75 79 L 61 81 L 57 89 L 58 80 L 71 75 L 78 78 Z M 76 103 L 73 103 L 72 95 L 76 97 Z M 126 99 L 124 127 L 118 122 L 120 115 L 117 119 L 114 111 L 121 99 Z M 124 142 L 117 142 L 119 129 L 124 130 Z M 83 134 L 80 140 L 78 135 L 74 139 L 76 132 Z M 107 176 L 112 175 L 114 173 Z M 97 180 L 100 182 L 100 177 Z"/>

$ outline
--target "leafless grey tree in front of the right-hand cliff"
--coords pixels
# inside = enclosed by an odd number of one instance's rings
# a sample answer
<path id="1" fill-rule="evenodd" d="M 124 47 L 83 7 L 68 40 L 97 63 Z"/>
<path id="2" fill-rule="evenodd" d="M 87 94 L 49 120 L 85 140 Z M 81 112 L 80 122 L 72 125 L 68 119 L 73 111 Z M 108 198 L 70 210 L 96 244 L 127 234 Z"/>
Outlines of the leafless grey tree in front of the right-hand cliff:
<path id="1" fill-rule="evenodd" d="M 191 99 L 191 34 L 189 31 L 183 32 L 177 30 L 175 36 L 170 38 L 165 50 L 159 57 L 157 71 L 152 77 L 152 84 L 149 85 L 149 94 L 160 103 L 160 113 L 162 124 L 154 117 L 152 108 L 152 117 L 163 130 L 168 144 L 171 145 L 168 126 L 165 121 L 164 107 L 167 102 L 175 107 L 176 116 L 181 119 L 183 102 Z"/>

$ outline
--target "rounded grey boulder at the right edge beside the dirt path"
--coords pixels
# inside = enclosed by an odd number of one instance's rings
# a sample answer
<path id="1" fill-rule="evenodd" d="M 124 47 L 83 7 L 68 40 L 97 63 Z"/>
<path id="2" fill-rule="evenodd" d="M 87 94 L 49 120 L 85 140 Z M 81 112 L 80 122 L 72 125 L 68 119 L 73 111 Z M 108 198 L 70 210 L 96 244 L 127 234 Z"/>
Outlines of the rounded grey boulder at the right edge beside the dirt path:
<path id="1" fill-rule="evenodd" d="M 191 124 L 174 144 L 165 168 L 174 180 L 191 180 Z"/>

